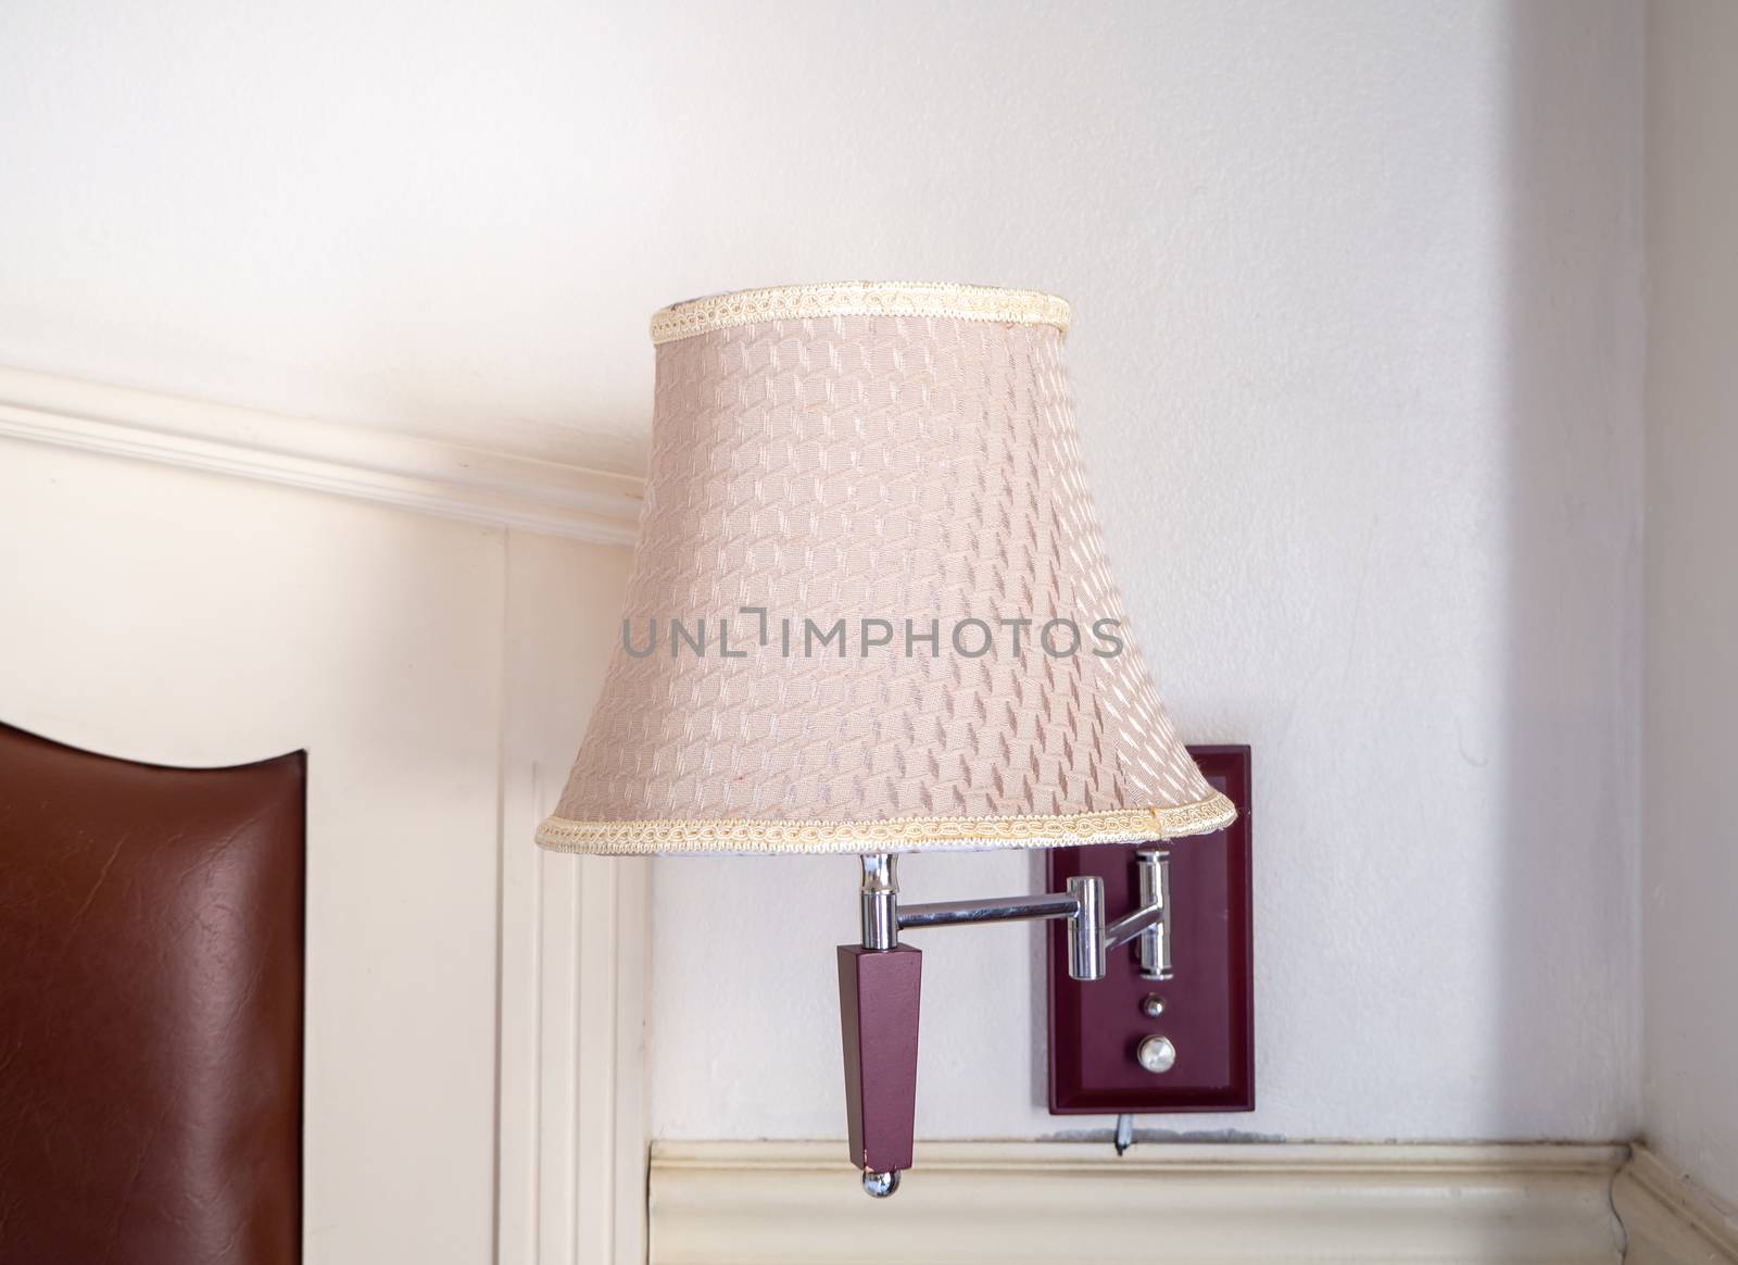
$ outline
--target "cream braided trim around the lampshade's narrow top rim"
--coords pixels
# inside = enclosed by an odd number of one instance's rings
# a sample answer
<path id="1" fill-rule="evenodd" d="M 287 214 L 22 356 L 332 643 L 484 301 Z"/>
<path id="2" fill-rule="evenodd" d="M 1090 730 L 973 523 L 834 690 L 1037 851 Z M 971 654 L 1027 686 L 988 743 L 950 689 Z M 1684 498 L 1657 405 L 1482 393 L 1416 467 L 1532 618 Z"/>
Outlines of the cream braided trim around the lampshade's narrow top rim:
<path id="1" fill-rule="evenodd" d="M 779 320 L 826 316 L 954 316 L 1069 330 L 1069 304 L 1041 290 L 999 290 L 942 281 L 826 281 L 773 285 L 690 299 L 652 315 L 652 342 Z"/>

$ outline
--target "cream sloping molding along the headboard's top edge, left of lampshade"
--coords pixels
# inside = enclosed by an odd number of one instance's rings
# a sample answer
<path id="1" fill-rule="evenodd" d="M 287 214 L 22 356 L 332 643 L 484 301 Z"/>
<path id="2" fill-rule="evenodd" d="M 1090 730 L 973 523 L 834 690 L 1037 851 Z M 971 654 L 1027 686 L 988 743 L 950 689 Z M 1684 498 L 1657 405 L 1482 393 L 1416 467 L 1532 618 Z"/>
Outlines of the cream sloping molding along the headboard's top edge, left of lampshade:
<path id="1" fill-rule="evenodd" d="M 0 367 L 0 436 L 600 544 L 633 542 L 643 485 L 631 474 L 9 367 Z"/>

